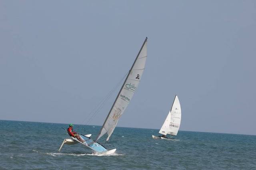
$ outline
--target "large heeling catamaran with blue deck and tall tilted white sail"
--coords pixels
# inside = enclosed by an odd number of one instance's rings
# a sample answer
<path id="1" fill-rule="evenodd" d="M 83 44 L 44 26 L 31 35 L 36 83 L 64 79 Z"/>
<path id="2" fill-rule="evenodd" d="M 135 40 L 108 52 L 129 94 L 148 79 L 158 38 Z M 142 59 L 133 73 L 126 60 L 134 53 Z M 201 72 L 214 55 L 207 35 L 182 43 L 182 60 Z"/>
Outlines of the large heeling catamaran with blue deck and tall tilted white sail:
<path id="1" fill-rule="evenodd" d="M 97 141 L 104 134 L 108 134 L 106 141 L 109 140 L 114 129 L 116 128 L 119 118 L 124 113 L 124 110 L 130 103 L 130 100 L 132 99 L 136 89 L 138 88 L 138 84 L 140 83 L 142 73 L 145 69 L 145 63 L 147 58 L 147 42 L 148 42 L 148 38 L 144 40 L 144 43 L 142 44 L 142 47 L 140 48 L 140 51 L 136 59 L 134 60 L 134 63 L 132 64 L 132 67 L 129 70 L 128 75 L 126 76 L 126 79 L 106 117 L 106 120 L 102 125 L 102 128 L 96 140 L 92 140 L 92 138 L 90 138 L 91 134 L 80 135 L 80 137 L 84 139 L 85 142 L 80 142 L 78 139 L 70 137 L 70 138 L 64 139 L 64 141 L 62 142 L 62 145 L 60 146 L 60 149 L 62 148 L 63 144 L 80 143 L 94 150 L 96 154 L 99 154 L 99 155 L 109 155 L 116 151 L 116 148 L 112 150 L 107 150 L 104 146 L 102 146 Z"/>

